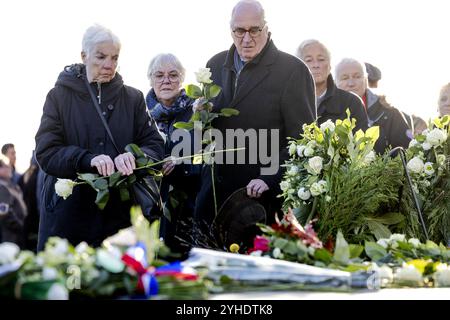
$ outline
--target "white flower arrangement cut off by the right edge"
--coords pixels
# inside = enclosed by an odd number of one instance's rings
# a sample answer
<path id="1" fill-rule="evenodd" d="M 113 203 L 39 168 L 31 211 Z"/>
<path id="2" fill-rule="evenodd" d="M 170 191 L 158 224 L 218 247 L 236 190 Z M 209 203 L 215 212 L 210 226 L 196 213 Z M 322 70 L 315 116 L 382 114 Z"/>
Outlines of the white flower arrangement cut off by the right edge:
<path id="1" fill-rule="evenodd" d="M 407 169 L 419 199 L 429 236 L 436 242 L 450 241 L 450 117 L 430 122 L 427 130 L 416 135 L 407 149 Z M 411 194 L 403 201 L 411 213 L 412 232 L 424 239 L 417 230 L 418 212 Z M 412 233 L 411 232 L 411 233 Z"/>

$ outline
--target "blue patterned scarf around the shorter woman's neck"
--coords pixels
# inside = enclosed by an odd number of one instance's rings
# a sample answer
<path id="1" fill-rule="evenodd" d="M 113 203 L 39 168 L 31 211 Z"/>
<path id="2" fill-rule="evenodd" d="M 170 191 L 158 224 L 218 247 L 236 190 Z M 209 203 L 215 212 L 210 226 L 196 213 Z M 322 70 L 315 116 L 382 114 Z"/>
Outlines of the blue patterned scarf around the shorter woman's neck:
<path id="1" fill-rule="evenodd" d="M 151 89 L 146 97 L 147 108 L 150 110 L 150 114 L 158 124 L 158 128 L 165 135 L 170 136 L 173 131 L 173 122 L 175 118 L 187 110 L 192 105 L 192 99 L 186 95 L 184 89 L 180 91 L 180 95 L 174 101 L 172 106 L 166 107 L 158 101 L 155 90 Z"/>

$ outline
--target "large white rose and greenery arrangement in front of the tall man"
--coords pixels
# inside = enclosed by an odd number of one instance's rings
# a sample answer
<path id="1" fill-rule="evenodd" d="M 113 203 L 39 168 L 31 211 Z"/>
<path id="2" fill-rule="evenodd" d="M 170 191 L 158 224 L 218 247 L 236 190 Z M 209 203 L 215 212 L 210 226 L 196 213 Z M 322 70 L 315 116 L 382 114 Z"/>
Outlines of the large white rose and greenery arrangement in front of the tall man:
<path id="1" fill-rule="evenodd" d="M 404 220 L 395 212 L 404 181 L 400 162 L 375 154 L 378 127 L 354 133 L 356 120 L 347 114 L 304 125 L 301 137 L 291 138 L 280 184 L 284 209 L 292 208 L 302 224 L 317 217 L 324 241 L 338 230 L 352 242 L 389 236 L 387 226 L 401 228 Z"/>

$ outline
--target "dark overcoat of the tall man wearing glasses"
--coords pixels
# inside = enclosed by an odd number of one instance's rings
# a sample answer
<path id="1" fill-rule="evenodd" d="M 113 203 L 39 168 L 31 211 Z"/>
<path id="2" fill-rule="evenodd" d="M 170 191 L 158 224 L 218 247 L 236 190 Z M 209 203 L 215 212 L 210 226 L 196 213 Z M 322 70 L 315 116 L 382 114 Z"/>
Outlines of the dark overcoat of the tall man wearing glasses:
<path id="1" fill-rule="evenodd" d="M 256 143 L 245 142 L 245 164 L 216 166 L 219 207 L 232 192 L 247 186 L 252 179 L 261 179 L 269 186 L 269 202 L 274 202 L 280 193 L 282 170 L 279 165 L 289 158 L 287 137 L 298 138 L 302 125 L 316 119 L 314 81 L 300 59 L 279 51 L 269 39 L 261 53 L 247 62 L 237 77 L 234 68 L 235 50 L 233 45 L 230 50 L 215 55 L 207 63 L 213 82 L 222 88 L 214 102 L 215 109 L 228 107 L 240 112 L 237 116 L 218 118 L 213 126 L 223 134 L 227 129 L 255 129 L 259 136 Z M 261 129 L 268 130 L 267 134 L 263 134 Z M 261 143 L 269 146 L 270 150 L 271 129 L 279 133 L 275 141 L 277 149 L 274 150 L 278 156 L 277 173 L 262 175 L 261 168 L 268 165 L 255 155 L 255 147 Z M 261 137 L 266 138 L 267 142 Z M 256 163 L 249 163 L 249 152 L 256 156 Z M 206 175 L 202 181 L 202 191 L 210 189 L 209 181 Z M 199 201 L 204 201 L 203 198 L 204 194 L 200 194 Z M 199 208 L 208 210 L 202 208 L 201 204 Z"/>

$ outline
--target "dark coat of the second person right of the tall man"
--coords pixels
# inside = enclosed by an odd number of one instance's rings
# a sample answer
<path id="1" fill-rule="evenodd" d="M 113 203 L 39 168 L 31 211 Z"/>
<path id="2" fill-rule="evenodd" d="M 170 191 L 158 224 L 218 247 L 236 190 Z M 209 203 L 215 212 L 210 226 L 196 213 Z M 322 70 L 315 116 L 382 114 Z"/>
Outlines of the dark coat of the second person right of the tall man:
<path id="1" fill-rule="evenodd" d="M 384 153 L 390 147 L 407 148 L 411 138 L 408 137 L 409 126 L 403 114 L 390 106 L 384 97 L 374 95 L 367 90 L 369 126 L 379 126 L 380 137 L 375 143 L 375 151 Z"/>

